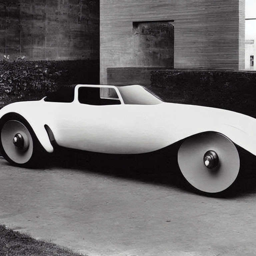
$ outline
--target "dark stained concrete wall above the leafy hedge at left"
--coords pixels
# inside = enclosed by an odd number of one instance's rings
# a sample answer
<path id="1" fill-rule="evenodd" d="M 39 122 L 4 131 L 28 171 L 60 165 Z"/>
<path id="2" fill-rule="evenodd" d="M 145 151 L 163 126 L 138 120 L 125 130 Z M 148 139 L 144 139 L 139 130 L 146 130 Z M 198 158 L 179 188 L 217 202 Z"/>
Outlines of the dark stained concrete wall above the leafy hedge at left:
<path id="1" fill-rule="evenodd" d="M 99 59 L 99 0 L 3 0 L 1 54 L 27 59 Z"/>

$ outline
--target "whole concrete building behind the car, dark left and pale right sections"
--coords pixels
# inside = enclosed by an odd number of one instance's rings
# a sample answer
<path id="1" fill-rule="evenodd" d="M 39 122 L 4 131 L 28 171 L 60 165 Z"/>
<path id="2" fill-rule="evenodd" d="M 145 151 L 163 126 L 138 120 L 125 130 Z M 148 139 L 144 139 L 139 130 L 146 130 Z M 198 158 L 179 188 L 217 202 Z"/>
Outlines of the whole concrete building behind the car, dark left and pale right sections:
<path id="1" fill-rule="evenodd" d="M 0 1 L 2 56 L 100 60 L 102 84 L 149 83 L 152 69 L 243 70 L 244 38 L 245 0 Z"/>

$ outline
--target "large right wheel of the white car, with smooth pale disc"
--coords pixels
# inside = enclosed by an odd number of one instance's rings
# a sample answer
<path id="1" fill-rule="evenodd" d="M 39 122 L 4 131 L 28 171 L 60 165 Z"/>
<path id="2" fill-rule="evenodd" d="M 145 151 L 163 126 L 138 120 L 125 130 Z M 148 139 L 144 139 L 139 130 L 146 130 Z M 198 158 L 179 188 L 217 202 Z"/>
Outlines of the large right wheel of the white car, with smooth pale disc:
<path id="1" fill-rule="evenodd" d="M 185 179 L 209 194 L 226 191 L 236 180 L 240 159 L 226 136 L 207 132 L 187 138 L 178 151 L 178 164 Z"/>

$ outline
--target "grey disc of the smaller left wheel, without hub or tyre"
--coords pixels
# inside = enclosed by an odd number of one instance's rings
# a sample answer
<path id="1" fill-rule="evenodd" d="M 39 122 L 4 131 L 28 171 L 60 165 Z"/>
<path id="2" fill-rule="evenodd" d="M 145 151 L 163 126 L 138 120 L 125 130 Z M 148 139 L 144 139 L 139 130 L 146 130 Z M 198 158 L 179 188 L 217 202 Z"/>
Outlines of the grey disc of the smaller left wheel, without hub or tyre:
<path id="1" fill-rule="evenodd" d="M 15 134 L 20 133 L 28 147 L 20 150 L 13 144 Z M 1 131 L 1 142 L 6 155 L 17 164 L 27 163 L 33 153 L 33 140 L 28 129 L 17 120 L 7 121 Z"/>

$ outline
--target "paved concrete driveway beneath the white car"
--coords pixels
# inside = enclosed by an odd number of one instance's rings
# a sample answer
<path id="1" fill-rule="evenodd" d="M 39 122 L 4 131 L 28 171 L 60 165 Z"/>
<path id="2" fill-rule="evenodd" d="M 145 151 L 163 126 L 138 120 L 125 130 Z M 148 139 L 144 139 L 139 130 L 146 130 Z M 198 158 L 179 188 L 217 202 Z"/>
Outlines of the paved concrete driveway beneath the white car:
<path id="1" fill-rule="evenodd" d="M 32 170 L 1 158 L 0 222 L 89 256 L 256 255 L 252 172 L 233 196 L 211 198 L 185 189 L 176 165 L 167 172 L 150 157 L 135 168 L 137 160 Z"/>

